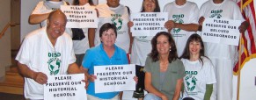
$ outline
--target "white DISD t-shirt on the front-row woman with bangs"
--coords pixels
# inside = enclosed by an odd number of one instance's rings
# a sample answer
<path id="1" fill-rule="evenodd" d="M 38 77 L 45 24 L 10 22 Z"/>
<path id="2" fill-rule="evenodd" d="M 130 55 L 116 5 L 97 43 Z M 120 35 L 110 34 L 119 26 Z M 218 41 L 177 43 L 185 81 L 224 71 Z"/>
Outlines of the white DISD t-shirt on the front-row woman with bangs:
<path id="1" fill-rule="evenodd" d="M 205 57 L 201 57 L 201 59 L 203 66 L 200 61 L 181 59 L 186 72 L 183 97 L 193 97 L 194 100 L 203 100 L 206 84 L 216 83 L 216 75 L 212 62 Z"/>

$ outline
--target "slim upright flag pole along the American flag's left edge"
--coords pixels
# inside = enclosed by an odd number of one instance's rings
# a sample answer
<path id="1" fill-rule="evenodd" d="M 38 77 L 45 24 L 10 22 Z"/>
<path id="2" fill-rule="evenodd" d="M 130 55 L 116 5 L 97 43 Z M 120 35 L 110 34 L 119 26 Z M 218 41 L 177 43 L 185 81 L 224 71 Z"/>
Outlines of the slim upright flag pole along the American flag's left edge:
<path id="1" fill-rule="evenodd" d="M 243 0 L 240 1 L 240 11 L 243 13 Z M 239 40 L 239 60 L 238 60 L 238 87 L 237 87 L 237 100 L 240 99 L 240 80 L 241 80 L 241 53 L 242 53 L 242 36 L 243 34 L 240 33 L 240 40 Z"/>

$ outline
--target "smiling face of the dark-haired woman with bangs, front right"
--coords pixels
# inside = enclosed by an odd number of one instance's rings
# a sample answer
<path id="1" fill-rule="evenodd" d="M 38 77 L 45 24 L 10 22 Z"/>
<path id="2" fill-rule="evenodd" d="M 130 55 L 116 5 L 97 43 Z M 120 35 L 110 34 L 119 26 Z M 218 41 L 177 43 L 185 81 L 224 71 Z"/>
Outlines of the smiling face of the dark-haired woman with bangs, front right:
<path id="1" fill-rule="evenodd" d="M 199 56 L 201 50 L 201 43 L 199 41 L 191 41 L 189 42 L 189 53 L 190 55 Z"/>

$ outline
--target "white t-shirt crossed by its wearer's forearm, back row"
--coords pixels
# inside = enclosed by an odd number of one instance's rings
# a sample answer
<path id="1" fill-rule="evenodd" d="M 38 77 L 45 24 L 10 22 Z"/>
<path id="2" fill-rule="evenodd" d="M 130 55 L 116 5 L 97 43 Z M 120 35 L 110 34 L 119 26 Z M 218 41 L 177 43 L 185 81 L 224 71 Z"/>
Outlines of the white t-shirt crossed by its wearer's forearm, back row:
<path id="1" fill-rule="evenodd" d="M 166 4 L 164 12 L 168 12 L 169 20 L 173 20 L 175 23 L 198 24 L 199 9 L 193 2 L 187 1 L 183 5 L 177 5 L 175 2 Z M 183 54 L 188 37 L 195 32 L 187 32 L 179 28 L 174 28 L 171 33 L 177 46 L 178 56 L 180 56 Z"/>

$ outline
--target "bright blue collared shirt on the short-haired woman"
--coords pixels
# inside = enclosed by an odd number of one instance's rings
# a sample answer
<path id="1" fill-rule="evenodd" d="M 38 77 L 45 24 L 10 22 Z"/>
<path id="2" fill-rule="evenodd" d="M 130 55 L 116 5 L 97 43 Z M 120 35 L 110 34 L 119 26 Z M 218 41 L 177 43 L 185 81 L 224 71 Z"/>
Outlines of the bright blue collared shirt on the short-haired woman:
<path id="1" fill-rule="evenodd" d="M 102 44 L 86 51 L 82 66 L 88 69 L 89 75 L 94 74 L 94 66 L 128 64 L 126 52 L 118 46 L 114 45 L 114 48 L 114 54 L 111 58 L 107 56 Z M 89 82 L 86 92 L 91 96 L 97 96 L 102 99 L 110 99 L 119 94 L 119 92 L 95 93 L 94 82 Z"/>

